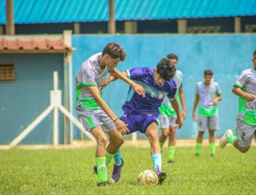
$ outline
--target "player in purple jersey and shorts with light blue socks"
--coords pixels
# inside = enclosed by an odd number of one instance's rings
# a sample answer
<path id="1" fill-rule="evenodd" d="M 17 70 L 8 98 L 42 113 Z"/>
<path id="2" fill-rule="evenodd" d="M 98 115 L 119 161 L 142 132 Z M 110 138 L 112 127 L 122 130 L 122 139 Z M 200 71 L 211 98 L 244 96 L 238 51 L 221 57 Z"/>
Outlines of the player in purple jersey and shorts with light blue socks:
<path id="1" fill-rule="evenodd" d="M 122 72 L 126 77 L 143 87 L 146 91 L 146 97 L 142 98 L 130 88 L 126 103 L 122 105 L 125 113 L 120 119 L 128 125 L 127 127 L 130 130 L 128 133 L 139 131 L 145 133 L 146 137 L 148 137 L 154 171 L 158 175 L 160 185 L 162 185 L 167 176 L 166 172 L 161 169 L 162 157 L 158 142 L 158 108 L 163 98 L 169 98 L 171 105 L 177 113 L 176 124 L 178 124 L 178 128 L 181 128 L 183 124 L 178 100 L 175 97 L 177 91 L 176 83 L 173 79 L 175 72 L 176 68 L 168 58 L 162 58 L 158 62 L 156 69 L 140 67 Z M 114 80 L 116 78 L 111 75 L 107 78 L 107 83 Z"/>

